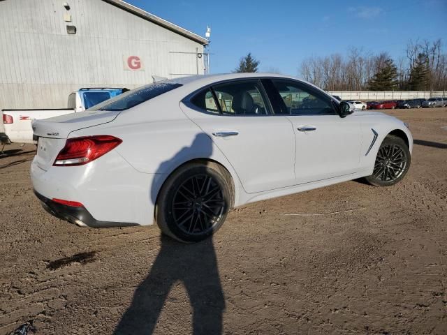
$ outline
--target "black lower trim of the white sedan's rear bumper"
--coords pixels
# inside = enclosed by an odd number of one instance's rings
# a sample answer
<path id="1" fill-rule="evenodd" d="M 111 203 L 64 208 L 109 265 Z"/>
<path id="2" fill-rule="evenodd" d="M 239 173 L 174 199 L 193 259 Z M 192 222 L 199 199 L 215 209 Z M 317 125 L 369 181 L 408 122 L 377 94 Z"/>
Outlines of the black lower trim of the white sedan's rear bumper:
<path id="1" fill-rule="evenodd" d="M 40 193 L 36 192 L 36 190 L 34 190 L 34 194 L 41 200 L 42 207 L 45 211 L 61 220 L 68 221 L 69 223 L 73 223 L 80 227 L 111 228 L 138 225 L 138 223 L 98 221 L 91 216 L 85 207 L 71 207 L 65 204 L 59 204 L 49 198 L 45 198 Z"/>

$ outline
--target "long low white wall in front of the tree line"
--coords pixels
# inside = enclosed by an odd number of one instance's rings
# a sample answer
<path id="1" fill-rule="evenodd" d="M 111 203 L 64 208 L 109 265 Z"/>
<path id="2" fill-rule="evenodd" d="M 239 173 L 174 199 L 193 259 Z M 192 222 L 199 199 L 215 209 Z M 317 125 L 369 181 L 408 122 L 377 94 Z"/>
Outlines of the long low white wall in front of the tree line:
<path id="1" fill-rule="evenodd" d="M 343 100 L 381 101 L 413 98 L 447 97 L 447 91 L 329 91 Z"/>

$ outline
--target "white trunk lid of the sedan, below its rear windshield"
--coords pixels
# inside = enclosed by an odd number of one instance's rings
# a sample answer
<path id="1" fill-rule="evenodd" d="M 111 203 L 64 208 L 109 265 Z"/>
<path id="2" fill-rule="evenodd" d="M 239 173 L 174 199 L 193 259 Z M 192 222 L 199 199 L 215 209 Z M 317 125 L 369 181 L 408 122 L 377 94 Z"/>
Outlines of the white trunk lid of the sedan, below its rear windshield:
<path id="1" fill-rule="evenodd" d="M 41 119 L 33 122 L 34 136 L 38 137 L 35 162 L 42 170 L 48 170 L 64 148 L 66 139 L 73 131 L 107 124 L 116 119 L 119 111 L 85 111 Z"/>

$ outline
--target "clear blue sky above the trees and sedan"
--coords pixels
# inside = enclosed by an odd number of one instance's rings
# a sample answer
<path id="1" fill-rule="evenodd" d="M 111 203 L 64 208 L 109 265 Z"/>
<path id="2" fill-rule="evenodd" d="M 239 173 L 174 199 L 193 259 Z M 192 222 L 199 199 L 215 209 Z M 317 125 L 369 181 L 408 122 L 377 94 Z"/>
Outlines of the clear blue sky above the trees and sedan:
<path id="1" fill-rule="evenodd" d="M 352 46 L 397 59 L 410 38 L 441 38 L 447 51 L 447 0 L 127 2 L 201 36 L 209 25 L 211 73 L 231 72 L 248 52 L 262 72 L 299 75 L 302 59 Z"/>

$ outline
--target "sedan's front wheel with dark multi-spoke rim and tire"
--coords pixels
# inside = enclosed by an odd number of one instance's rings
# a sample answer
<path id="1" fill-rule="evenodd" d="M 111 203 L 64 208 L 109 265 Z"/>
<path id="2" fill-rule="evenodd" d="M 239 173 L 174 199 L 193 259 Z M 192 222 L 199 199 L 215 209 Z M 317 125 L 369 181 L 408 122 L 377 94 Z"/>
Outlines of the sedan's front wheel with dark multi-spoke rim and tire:
<path id="1" fill-rule="evenodd" d="M 377 152 L 372 175 L 365 179 L 374 186 L 392 186 L 405 177 L 410 165 L 411 155 L 404 140 L 388 135 Z"/>

